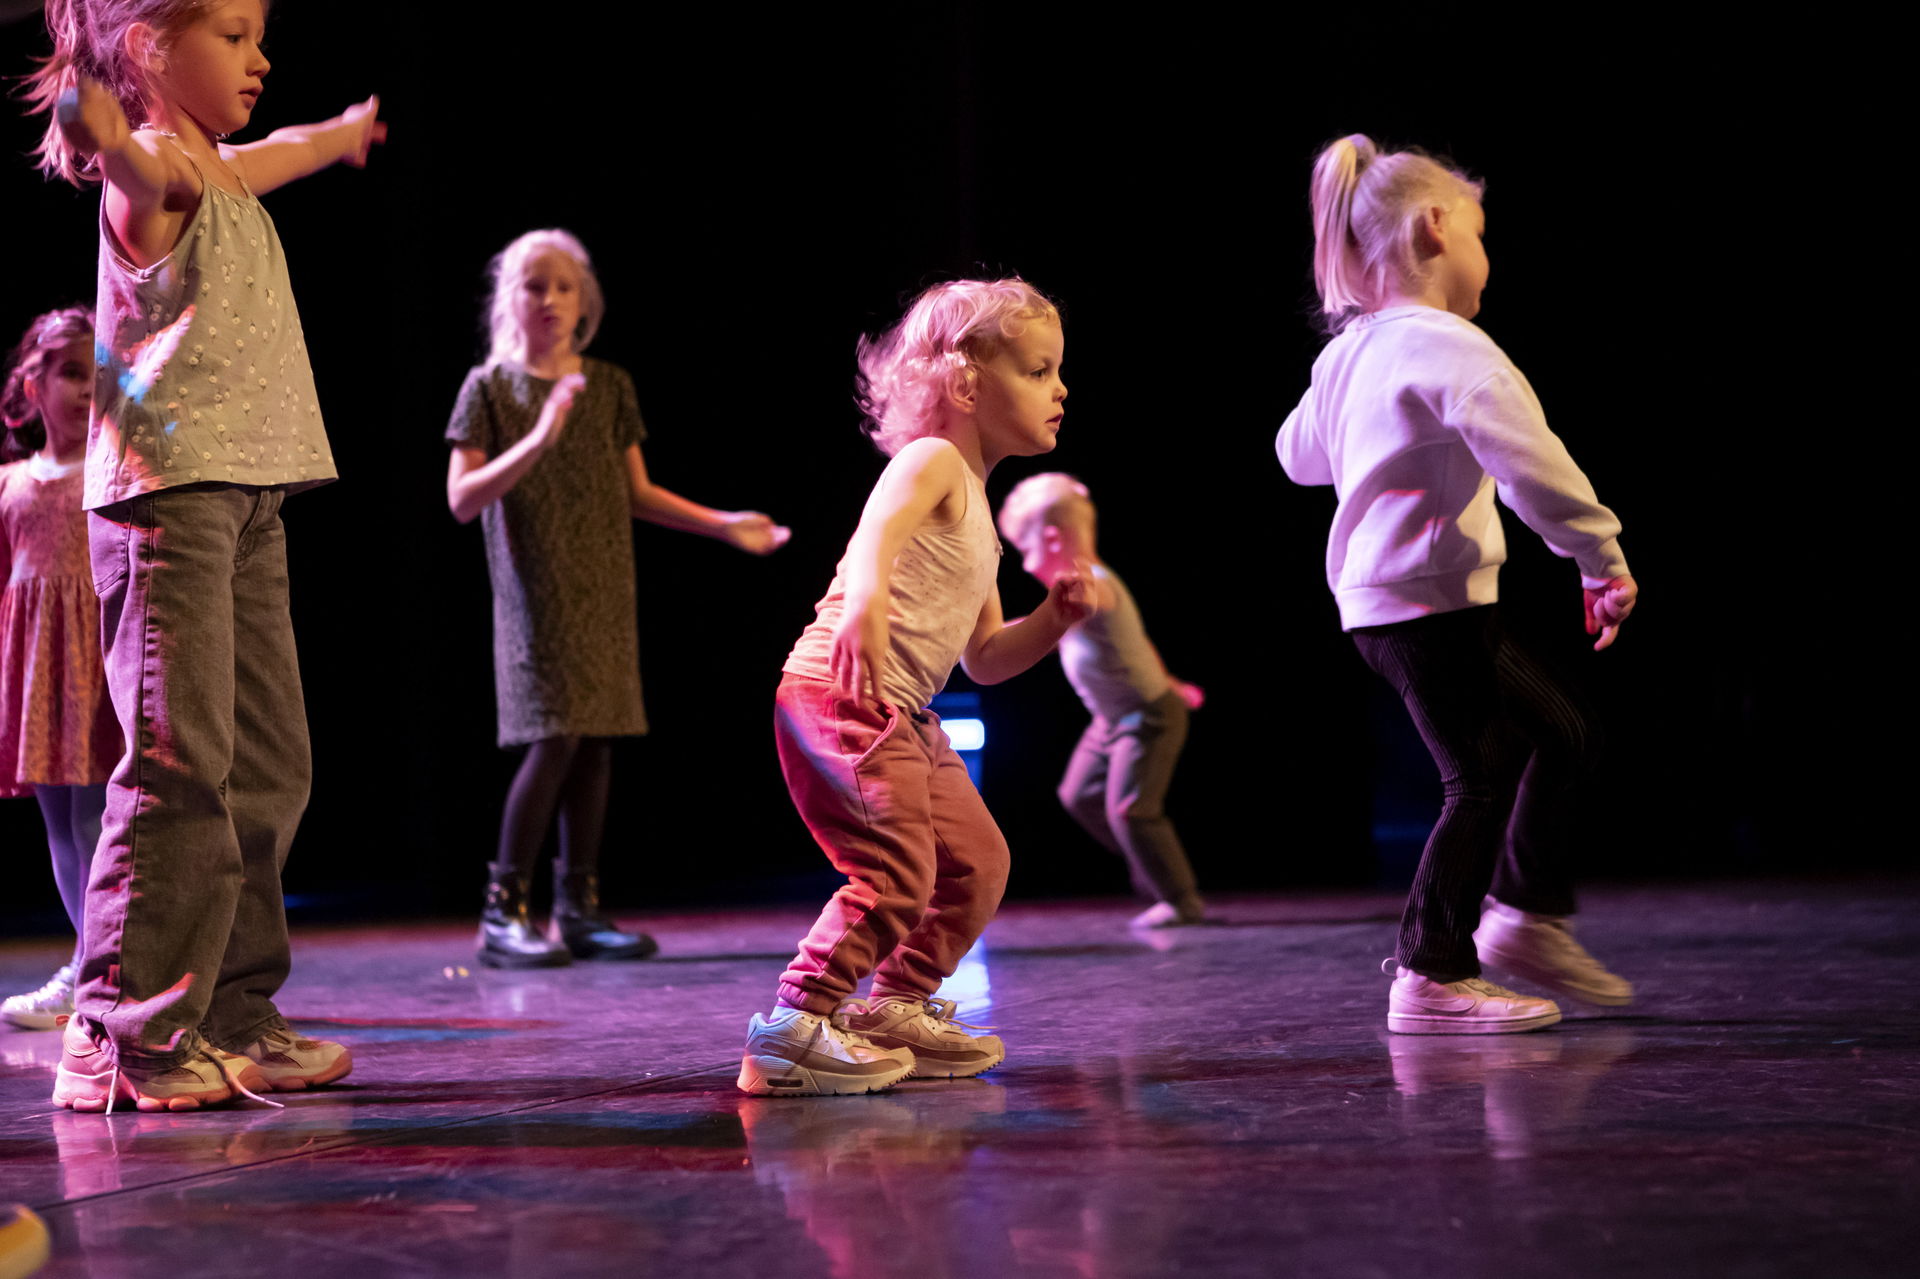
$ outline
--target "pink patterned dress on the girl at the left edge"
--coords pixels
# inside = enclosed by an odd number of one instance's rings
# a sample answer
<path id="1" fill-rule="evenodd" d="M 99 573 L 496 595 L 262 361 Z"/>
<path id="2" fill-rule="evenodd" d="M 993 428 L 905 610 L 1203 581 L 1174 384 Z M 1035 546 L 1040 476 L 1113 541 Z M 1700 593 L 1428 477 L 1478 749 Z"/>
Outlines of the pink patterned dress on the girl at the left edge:
<path id="1" fill-rule="evenodd" d="M 121 757 L 100 670 L 81 467 L 0 467 L 0 795 L 106 782 Z"/>

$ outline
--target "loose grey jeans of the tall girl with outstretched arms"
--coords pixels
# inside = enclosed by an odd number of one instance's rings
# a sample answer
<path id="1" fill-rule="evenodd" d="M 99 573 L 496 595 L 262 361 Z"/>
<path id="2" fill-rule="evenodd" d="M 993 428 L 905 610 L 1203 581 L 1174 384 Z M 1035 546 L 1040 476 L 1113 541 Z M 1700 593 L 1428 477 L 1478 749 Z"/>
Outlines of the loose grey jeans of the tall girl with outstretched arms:
<path id="1" fill-rule="evenodd" d="M 127 737 L 86 885 L 77 1010 L 177 1064 L 280 1022 L 280 868 L 311 755 L 278 488 L 192 484 L 88 513 L 108 689 Z"/>

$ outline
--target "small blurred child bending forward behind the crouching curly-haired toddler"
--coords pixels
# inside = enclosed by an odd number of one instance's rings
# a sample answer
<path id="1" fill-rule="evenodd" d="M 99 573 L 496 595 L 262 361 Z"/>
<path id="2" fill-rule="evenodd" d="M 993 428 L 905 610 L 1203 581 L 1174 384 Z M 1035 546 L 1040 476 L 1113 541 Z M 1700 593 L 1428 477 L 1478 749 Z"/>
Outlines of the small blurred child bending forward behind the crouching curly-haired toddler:
<path id="1" fill-rule="evenodd" d="M 1089 835 L 1127 858 L 1133 889 L 1154 903 L 1135 928 L 1206 922 L 1206 903 L 1165 812 L 1187 712 L 1206 695 L 1167 674 L 1140 609 L 1096 549 L 1087 486 L 1069 474 L 1027 476 L 1000 503 L 1000 534 L 1041 586 L 1068 572 L 1092 582 L 1094 615 L 1060 640 L 1060 668 L 1092 714 L 1060 778 L 1060 803 Z"/>

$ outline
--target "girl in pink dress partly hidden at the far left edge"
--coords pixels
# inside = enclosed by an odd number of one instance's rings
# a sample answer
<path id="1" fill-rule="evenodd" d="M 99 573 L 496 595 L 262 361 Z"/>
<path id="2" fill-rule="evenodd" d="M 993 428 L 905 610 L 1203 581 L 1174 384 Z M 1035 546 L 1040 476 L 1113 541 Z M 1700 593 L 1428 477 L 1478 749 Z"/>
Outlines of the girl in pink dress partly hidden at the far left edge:
<path id="1" fill-rule="evenodd" d="M 31 793 L 40 805 L 75 951 L 38 991 L 0 1002 L 0 1020 L 23 1029 L 54 1029 L 73 1012 L 86 868 L 121 755 L 81 507 L 92 394 L 92 311 L 33 321 L 0 394 L 0 795 Z"/>

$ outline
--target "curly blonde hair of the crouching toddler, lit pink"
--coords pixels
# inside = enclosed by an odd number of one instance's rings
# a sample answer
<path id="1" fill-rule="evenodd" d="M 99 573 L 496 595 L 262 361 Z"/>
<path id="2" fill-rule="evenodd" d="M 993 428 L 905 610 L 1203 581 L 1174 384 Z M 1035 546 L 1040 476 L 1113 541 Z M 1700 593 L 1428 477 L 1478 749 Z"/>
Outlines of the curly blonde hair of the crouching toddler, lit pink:
<path id="1" fill-rule="evenodd" d="M 1020 277 L 948 280 L 906 307 L 879 338 L 860 338 L 856 399 L 862 430 L 893 457 L 941 422 L 941 401 L 972 388 L 979 363 L 1035 321 L 1060 323 L 1060 307 Z"/>

